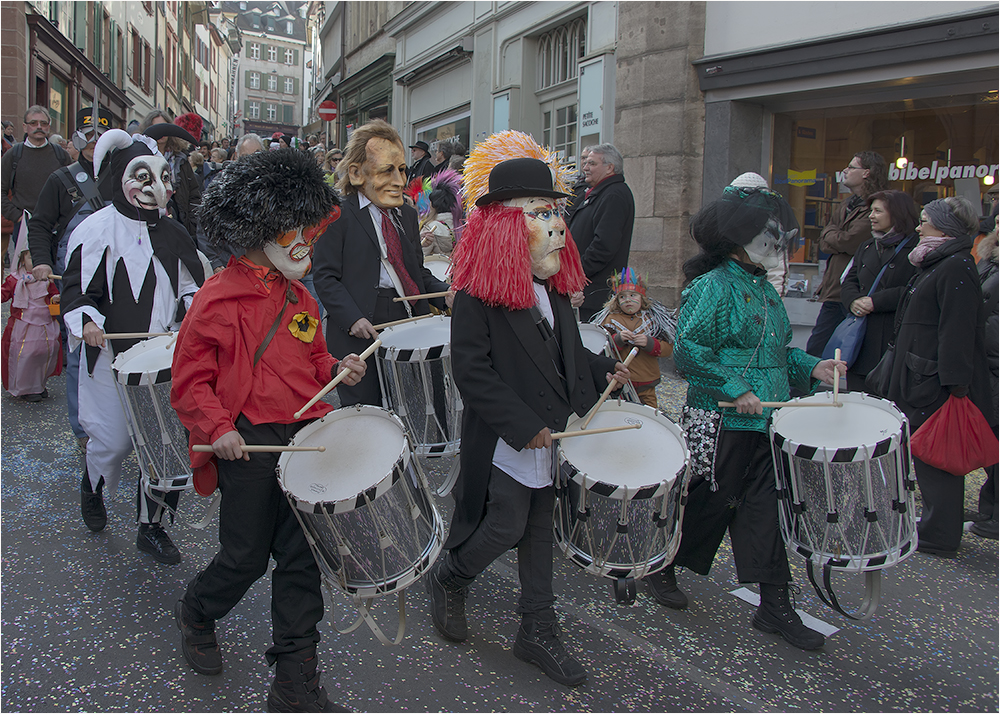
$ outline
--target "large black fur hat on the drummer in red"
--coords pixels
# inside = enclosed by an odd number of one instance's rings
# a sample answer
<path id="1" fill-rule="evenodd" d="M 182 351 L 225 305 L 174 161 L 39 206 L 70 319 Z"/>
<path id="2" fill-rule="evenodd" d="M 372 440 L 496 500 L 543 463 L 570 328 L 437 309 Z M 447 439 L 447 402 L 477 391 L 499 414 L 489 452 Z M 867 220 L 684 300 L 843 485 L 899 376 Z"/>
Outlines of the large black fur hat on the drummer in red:
<path id="1" fill-rule="evenodd" d="M 198 219 L 213 243 L 253 249 L 320 223 L 339 205 L 312 154 L 258 151 L 226 165 L 205 189 Z"/>

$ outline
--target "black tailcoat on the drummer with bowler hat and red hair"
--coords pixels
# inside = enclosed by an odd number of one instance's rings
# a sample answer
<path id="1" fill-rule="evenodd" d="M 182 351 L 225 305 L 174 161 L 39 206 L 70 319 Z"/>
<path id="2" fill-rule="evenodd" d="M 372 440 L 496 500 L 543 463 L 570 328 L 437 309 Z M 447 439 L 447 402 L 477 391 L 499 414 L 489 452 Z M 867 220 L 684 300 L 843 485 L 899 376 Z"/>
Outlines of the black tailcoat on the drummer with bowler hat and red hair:
<path id="1" fill-rule="evenodd" d="M 587 413 L 607 386 L 605 374 L 614 372 L 613 359 L 583 346 L 569 300 L 549 295 L 569 394 L 528 310 L 455 296 L 451 360 L 464 412 L 461 475 L 445 548 L 461 545 L 482 520 L 497 440 L 521 450 L 545 427 L 561 431 L 572 413 Z"/>

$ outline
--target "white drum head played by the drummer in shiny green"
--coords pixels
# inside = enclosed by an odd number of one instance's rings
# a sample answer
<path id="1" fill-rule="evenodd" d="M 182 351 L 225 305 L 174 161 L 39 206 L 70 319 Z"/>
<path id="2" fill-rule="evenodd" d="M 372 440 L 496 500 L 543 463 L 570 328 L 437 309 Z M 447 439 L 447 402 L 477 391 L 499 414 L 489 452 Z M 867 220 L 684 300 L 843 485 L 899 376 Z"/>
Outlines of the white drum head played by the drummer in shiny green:
<path id="1" fill-rule="evenodd" d="M 831 403 L 833 392 L 792 401 Z M 839 401 L 842 407 L 782 407 L 772 415 L 771 429 L 785 442 L 827 451 L 862 446 L 874 449 L 900 433 L 903 415 L 892 402 L 864 392 L 841 393 Z"/>

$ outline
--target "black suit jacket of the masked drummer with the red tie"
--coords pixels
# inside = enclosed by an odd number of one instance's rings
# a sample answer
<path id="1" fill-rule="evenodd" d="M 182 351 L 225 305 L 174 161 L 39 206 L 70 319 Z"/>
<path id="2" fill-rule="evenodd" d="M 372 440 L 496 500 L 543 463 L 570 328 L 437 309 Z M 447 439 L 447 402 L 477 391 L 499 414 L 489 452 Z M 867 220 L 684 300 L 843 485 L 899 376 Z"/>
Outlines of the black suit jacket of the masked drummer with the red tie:
<path id="1" fill-rule="evenodd" d="M 345 196 L 340 208 L 340 218 L 320 236 L 313 253 L 313 284 L 329 315 L 326 343 L 330 354 L 338 359 L 351 352 L 360 354 L 370 344 L 368 339 L 351 337 L 350 329 L 362 317 L 374 322 L 381 271 L 378 234 L 368 208 L 360 207 L 357 194 Z M 403 264 L 417 288 L 421 293 L 447 290 L 448 284 L 424 267 L 417 212 L 409 206 L 402 208 L 402 224 Z M 440 309 L 445 307 L 441 298 L 433 303 Z M 428 312 L 426 300 L 414 303 L 414 315 Z M 361 384 L 352 389 L 362 403 L 381 404 L 374 357 L 368 360 L 368 371 Z"/>

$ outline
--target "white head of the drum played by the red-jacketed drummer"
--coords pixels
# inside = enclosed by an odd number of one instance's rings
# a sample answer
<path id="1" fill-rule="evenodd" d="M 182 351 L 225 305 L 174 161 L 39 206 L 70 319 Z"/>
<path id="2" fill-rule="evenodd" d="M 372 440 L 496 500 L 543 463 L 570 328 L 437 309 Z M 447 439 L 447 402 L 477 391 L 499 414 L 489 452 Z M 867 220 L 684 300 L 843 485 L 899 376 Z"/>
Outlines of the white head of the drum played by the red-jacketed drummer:
<path id="1" fill-rule="evenodd" d="M 353 503 L 362 492 L 391 480 L 408 453 L 403 424 L 378 407 L 330 412 L 303 427 L 291 445 L 326 447 L 285 452 L 278 459 L 281 487 L 300 504 Z"/>

